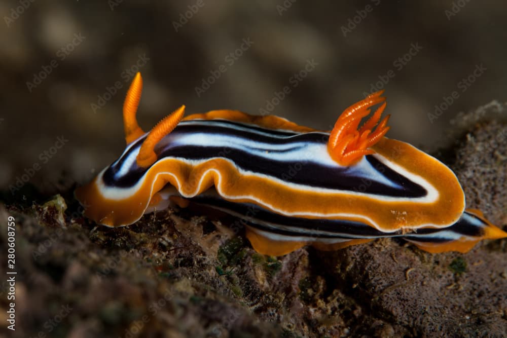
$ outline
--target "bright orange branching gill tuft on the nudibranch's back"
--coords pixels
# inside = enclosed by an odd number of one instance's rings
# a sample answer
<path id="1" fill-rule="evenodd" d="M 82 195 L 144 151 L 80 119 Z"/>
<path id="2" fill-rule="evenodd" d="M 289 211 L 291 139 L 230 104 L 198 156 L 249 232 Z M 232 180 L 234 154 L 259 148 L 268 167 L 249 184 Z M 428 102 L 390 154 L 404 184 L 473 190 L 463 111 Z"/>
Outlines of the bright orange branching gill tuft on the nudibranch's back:
<path id="1" fill-rule="evenodd" d="M 389 116 L 380 123 L 380 116 L 385 109 L 383 91 L 375 92 L 342 112 L 329 136 L 328 152 L 338 164 L 349 166 L 365 155 L 375 152 L 369 149 L 377 143 L 389 130 L 386 127 Z M 384 102 L 373 116 L 358 129 L 361 119 L 370 114 L 370 107 Z M 378 123 L 378 125 L 377 125 Z M 376 126 L 376 127 L 375 127 Z M 373 129 L 375 127 L 375 129 Z"/>

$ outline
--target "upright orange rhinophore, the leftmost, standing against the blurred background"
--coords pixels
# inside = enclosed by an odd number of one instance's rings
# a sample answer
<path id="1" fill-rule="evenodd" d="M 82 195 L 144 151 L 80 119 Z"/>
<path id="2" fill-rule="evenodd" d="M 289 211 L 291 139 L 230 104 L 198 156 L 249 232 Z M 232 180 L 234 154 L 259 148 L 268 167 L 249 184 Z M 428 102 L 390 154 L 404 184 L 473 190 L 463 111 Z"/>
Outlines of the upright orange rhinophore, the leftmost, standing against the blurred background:
<path id="1" fill-rule="evenodd" d="M 135 74 L 134 80 L 123 103 L 123 126 L 125 129 L 125 141 L 130 144 L 132 141 L 144 134 L 144 131 L 137 124 L 135 114 L 139 106 L 142 92 L 141 73 Z"/>

